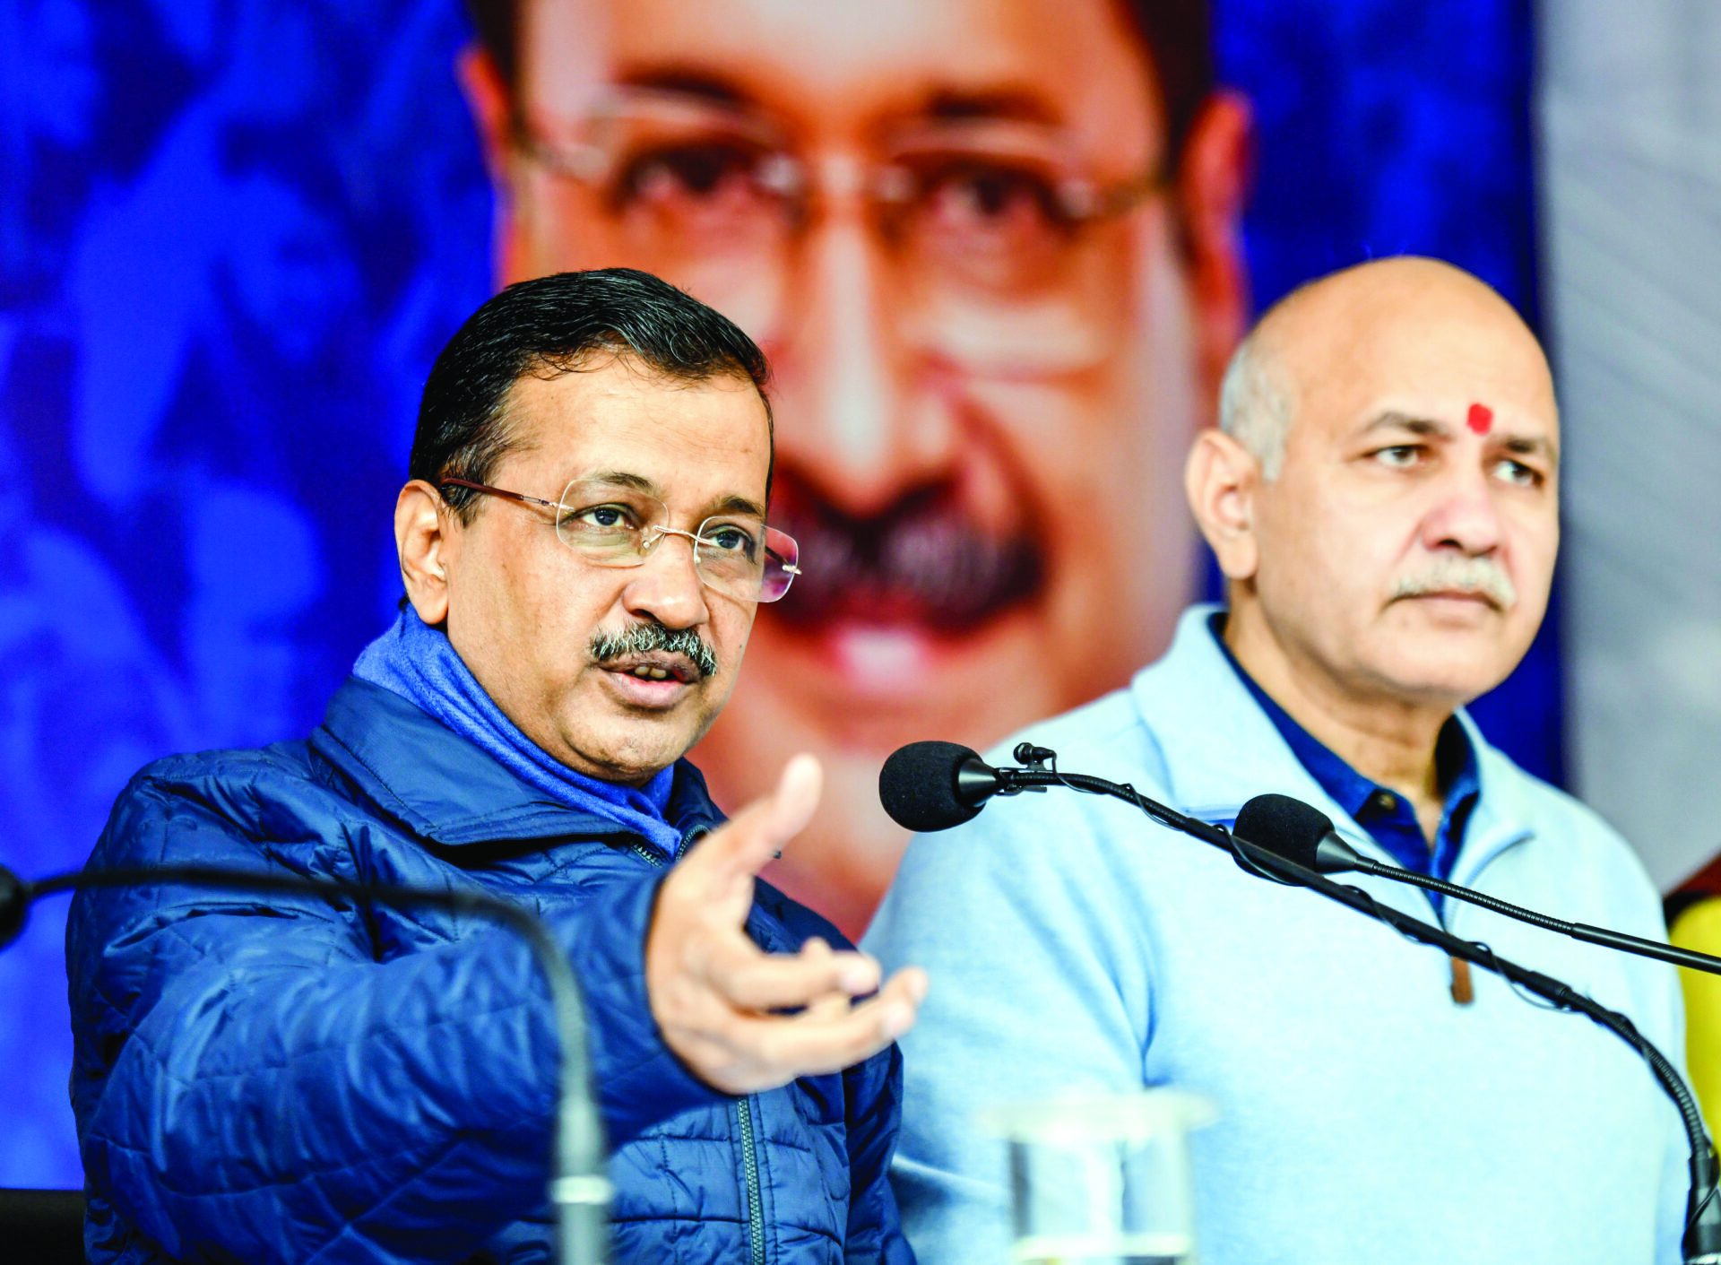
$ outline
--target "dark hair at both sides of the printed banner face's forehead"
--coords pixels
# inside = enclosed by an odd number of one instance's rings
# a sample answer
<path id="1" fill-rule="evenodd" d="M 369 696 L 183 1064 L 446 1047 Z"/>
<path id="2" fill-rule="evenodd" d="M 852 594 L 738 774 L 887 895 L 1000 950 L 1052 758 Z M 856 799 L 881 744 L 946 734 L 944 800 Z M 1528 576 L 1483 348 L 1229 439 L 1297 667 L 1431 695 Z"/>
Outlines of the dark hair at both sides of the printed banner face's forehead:
<path id="1" fill-rule="evenodd" d="M 1141 38 L 1160 81 L 1165 105 L 1165 145 L 1175 170 L 1201 102 L 1213 91 L 1213 26 L 1208 0 L 1112 0 Z M 472 24 L 513 86 L 520 65 L 520 0 L 466 0 Z"/>

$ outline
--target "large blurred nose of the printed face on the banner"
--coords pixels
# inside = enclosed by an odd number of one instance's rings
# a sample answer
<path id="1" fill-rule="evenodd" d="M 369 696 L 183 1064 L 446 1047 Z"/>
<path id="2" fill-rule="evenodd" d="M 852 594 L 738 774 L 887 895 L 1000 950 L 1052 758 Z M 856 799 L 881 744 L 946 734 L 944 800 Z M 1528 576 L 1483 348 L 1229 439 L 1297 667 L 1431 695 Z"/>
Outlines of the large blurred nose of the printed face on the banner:
<path id="1" fill-rule="evenodd" d="M 855 516 L 935 482 L 957 427 L 935 365 L 902 337 L 905 296 L 859 198 L 826 198 L 802 244 L 778 351 L 778 447 Z"/>

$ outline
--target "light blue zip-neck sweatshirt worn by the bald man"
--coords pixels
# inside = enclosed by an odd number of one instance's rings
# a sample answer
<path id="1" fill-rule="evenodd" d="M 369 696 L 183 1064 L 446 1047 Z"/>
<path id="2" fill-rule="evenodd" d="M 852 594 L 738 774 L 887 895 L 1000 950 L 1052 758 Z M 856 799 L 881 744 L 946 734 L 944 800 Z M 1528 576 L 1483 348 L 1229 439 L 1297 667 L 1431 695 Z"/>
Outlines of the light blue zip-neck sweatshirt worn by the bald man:
<path id="1" fill-rule="evenodd" d="M 1029 730 L 1064 771 L 1208 821 L 1280 792 L 1391 861 L 1298 762 L 1187 611 L 1127 690 Z M 1482 793 L 1453 881 L 1559 917 L 1664 935 L 1656 890 L 1594 812 L 1470 726 Z M 1014 742 L 1014 740 L 1012 740 Z M 995 752 L 995 762 L 1012 744 Z M 1435 921 L 1413 888 L 1348 876 Z M 1671 967 L 1446 902 L 1456 935 L 1552 974 L 1678 1060 Z M 978 1110 L 1062 1089 L 1213 1098 L 1194 1136 L 1203 1265 L 1671 1265 L 1685 1134 L 1644 1060 L 1588 1019 L 1117 800 L 993 800 L 909 845 L 866 948 L 931 972 L 904 1038 L 893 1184 L 922 1265 L 1009 1260 L 1005 1153 Z"/>

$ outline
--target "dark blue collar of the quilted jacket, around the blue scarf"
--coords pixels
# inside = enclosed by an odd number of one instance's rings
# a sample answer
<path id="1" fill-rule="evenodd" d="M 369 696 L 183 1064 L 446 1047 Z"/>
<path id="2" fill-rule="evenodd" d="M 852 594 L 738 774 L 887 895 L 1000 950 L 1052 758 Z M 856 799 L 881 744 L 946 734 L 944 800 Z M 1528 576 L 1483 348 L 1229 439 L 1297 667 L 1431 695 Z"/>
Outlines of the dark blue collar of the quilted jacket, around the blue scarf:
<path id="1" fill-rule="evenodd" d="M 429 713 L 356 676 L 329 700 L 312 747 L 379 809 L 432 843 L 638 840 L 608 818 L 546 799 Z M 683 838 L 723 823 L 704 774 L 685 759 L 676 762 L 668 818 Z"/>

